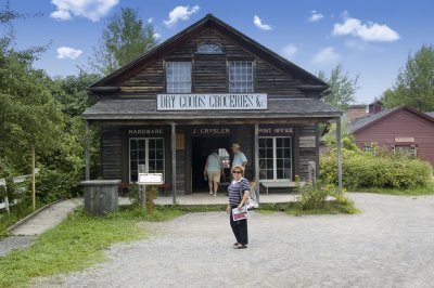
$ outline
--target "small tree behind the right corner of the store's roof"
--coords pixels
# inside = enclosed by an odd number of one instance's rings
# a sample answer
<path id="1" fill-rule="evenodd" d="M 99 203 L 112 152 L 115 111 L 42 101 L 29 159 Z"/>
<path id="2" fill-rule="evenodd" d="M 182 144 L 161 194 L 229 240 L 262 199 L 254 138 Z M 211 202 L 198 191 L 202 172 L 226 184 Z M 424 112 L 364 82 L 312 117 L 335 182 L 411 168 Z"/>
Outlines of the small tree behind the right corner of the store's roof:
<path id="1" fill-rule="evenodd" d="M 344 74 L 341 64 L 331 71 L 330 78 L 326 76 L 324 71 L 319 71 L 318 78 L 330 86 L 329 93 L 323 97 L 330 105 L 346 110 L 348 105 L 355 102 L 359 77 L 356 76 L 355 79 L 350 79 L 348 73 Z"/>

